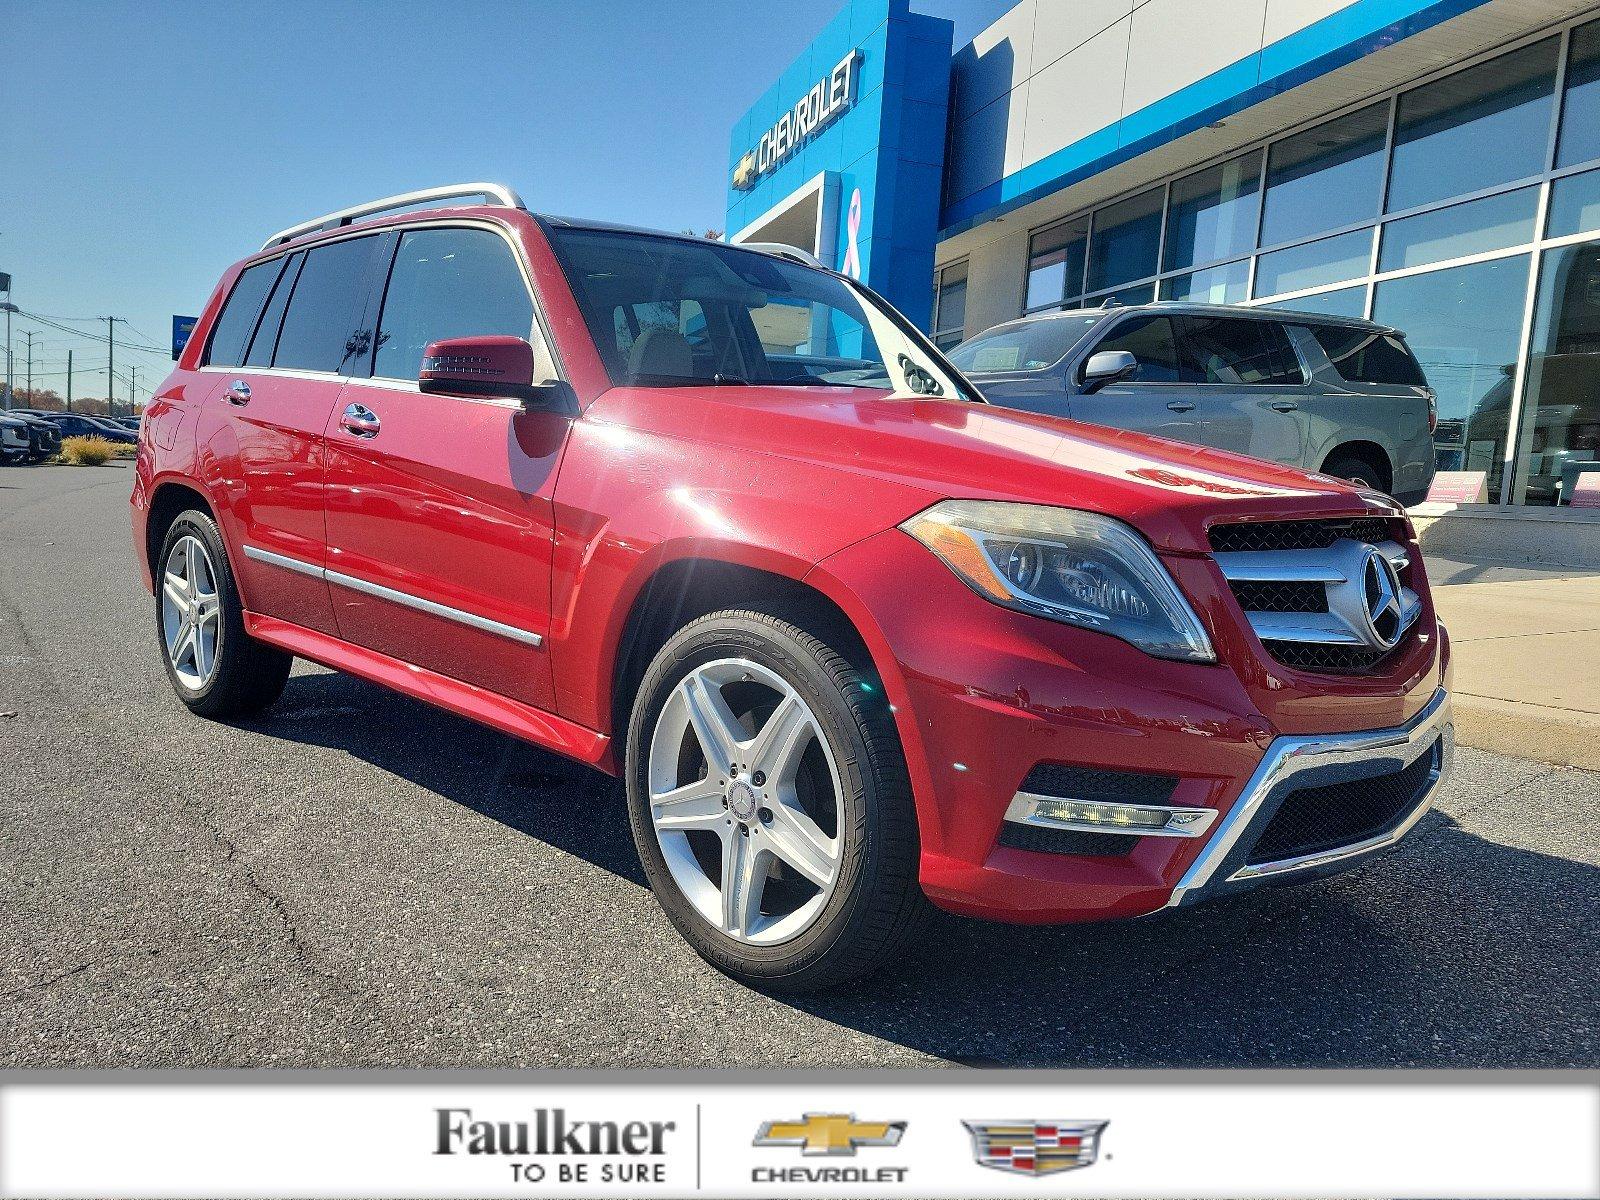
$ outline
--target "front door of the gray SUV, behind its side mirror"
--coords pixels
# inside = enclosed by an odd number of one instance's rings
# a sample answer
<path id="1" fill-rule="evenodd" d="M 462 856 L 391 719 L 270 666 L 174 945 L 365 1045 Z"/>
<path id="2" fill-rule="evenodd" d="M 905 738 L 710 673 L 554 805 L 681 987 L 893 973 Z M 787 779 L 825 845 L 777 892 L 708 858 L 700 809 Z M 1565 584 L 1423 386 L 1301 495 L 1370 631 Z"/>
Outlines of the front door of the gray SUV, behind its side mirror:
<path id="1" fill-rule="evenodd" d="M 1085 394 L 1083 363 L 1102 350 L 1126 350 L 1139 371 L 1131 379 Z M 1126 317 L 1078 355 L 1072 416 L 1096 426 L 1248 453 L 1248 419 L 1234 408 L 1230 395 L 1197 387 L 1198 378 L 1184 358 L 1176 318 L 1150 314 Z"/>

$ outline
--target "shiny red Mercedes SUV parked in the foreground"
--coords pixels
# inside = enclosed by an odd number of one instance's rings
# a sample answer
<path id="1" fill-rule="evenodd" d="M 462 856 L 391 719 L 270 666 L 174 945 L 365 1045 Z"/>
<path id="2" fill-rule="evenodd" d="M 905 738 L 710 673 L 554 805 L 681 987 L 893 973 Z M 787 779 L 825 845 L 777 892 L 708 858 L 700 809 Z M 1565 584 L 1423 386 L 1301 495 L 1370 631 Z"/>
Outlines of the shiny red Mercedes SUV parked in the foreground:
<path id="1" fill-rule="evenodd" d="M 133 538 L 190 709 L 301 656 L 622 774 L 674 925 L 770 986 L 875 968 L 926 901 L 1077 922 L 1339 870 L 1451 758 L 1392 501 L 992 408 L 798 251 L 499 186 L 232 267 Z"/>

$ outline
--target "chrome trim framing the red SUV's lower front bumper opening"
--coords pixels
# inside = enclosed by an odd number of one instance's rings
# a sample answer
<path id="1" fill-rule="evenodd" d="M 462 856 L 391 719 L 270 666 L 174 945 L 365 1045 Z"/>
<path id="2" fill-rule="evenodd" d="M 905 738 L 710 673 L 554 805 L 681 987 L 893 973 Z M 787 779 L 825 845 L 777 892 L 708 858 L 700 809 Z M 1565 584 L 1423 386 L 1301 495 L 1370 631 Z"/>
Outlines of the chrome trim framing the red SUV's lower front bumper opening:
<path id="1" fill-rule="evenodd" d="M 1424 750 L 1432 749 L 1434 742 L 1440 739 L 1443 741 L 1440 744 L 1438 763 L 1422 789 L 1421 800 L 1394 829 L 1318 854 L 1240 867 L 1222 882 L 1243 882 L 1264 875 L 1306 870 L 1390 846 L 1405 837 L 1422 818 L 1422 813 L 1432 806 L 1434 797 L 1438 794 L 1438 786 L 1448 778 L 1453 765 L 1454 723 L 1451 720 L 1450 693 L 1440 688 L 1422 712 L 1408 723 L 1390 730 L 1283 736 L 1275 739 L 1250 776 L 1238 800 L 1234 802 L 1234 806 L 1222 818 L 1213 838 L 1189 866 L 1182 878 L 1178 880 L 1171 898 L 1166 901 L 1166 907 L 1176 907 L 1182 902 L 1184 896 L 1200 891 L 1213 882 L 1216 872 L 1227 862 L 1235 846 L 1254 824 L 1262 805 L 1294 776 L 1326 766 L 1362 765 L 1378 758 L 1398 762 L 1405 768 L 1414 763 Z"/>

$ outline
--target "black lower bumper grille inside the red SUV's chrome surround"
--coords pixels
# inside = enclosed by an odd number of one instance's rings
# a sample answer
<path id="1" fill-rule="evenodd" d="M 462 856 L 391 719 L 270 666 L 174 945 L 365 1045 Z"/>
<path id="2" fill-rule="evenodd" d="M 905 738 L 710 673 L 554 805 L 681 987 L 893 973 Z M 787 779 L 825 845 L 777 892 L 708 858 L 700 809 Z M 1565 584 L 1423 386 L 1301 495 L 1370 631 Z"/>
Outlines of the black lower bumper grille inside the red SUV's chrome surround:
<path id="1" fill-rule="evenodd" d="M 1245 856 L 1250 866 L 1339 850 L 1382 834 L 1411 811 L 1434 773 L 1435 741 L 1410 766 L 1290 795 Z"/>

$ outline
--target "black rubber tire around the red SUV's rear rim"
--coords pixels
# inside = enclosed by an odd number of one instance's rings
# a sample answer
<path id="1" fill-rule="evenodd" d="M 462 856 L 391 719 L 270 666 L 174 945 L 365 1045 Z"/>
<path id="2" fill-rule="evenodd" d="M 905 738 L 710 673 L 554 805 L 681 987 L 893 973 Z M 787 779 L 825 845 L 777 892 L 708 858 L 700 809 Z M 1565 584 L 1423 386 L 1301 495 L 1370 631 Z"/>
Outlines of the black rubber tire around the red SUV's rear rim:
<path id="1" fill-rule="evenodd" d="M 166 574 L 173 547 L 186 536 L 197 538 L 211 560 L 214 573 L 216 595 L 219 600 L 219 619 L 216 634 L 216 669 L 198 688 L 189 686 L 178 674 L 171 654 L 166 651 L 163 629 L 162 584 Z M 162 552 L 154 563 L 155 576 L 155 638 L 162 651 L 162 664 L 166 667 L 166 678 L 173 685 L 190 712 L 213 720 L 229 717 L 248 717 L 272 704 L 283 694 L 288 683 L 290 667 L 294 656 L 277 646 L 256 642 L 245 632 L 245 606 L 238 598 L 238 586 L 234 582 L 234 568 L 227 562 L 227 549 L 222 546 L 222 534 L 216 522 L 198 509 L 187 509 L 166 530 L 162 539 Z"/>

